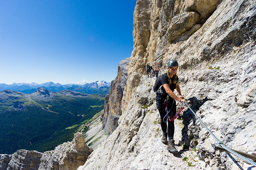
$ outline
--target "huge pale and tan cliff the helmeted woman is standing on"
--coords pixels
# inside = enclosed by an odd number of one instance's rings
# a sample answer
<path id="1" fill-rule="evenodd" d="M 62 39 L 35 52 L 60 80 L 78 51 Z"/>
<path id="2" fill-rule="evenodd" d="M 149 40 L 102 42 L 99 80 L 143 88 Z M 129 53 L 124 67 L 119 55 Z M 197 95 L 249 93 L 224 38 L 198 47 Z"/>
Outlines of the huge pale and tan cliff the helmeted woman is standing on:
<path id="1" fill-rule="evenodd" d="M 167 152 L 160 142 L 155 79 L 147 78 L 145 66 L 158 62 L 165 70 L 168 60 L 177 59 L 181 92 L 193 111 L 226 146 L 255 153 L 255 22 L 255 1 L 138 0 L 119 125 L 79 170 L 251 169 L 242 159 L 213 150 L 216 141 L 188 108 L 182 121 L 175 120 L 174 139 L 195 149 L 177 157 Z M 204 163 L 187 156 L 195 167 L 188 166 L 182 161 L 186 153 Z"/>

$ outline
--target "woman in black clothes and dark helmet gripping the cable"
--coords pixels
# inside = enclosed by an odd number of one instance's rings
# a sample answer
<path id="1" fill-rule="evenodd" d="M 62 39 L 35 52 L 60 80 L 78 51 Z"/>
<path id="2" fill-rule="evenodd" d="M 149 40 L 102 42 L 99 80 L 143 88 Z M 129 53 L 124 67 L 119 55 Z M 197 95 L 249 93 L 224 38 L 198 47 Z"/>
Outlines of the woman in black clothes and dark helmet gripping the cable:
<path id="1" fill-rule="evenodd" d="M 176 114 L 176 101 L 182 103 L 185 99 L 181 95 L 179 79 L 177 76 L 178 63 L 175 59 L 171 59 L 168 62 L 167 73 L 162 74 L 159 77 L 160 88 L 156 92 L 156 107 L 161 117 L 161 128 L 163 131 L 163 137 L 161 141 L 167 144 L 167 150 L 173 154 L 177 154 L 177 149 L 174 143 L 174 121 L 171 120 Z M 179 94 L 179 97 L 174 94 L 174 90 Z M 167 121 L 164 121 L 164 117 Z M 168 123 L 167 123 L 168 122 Z M 167 126 L 168 124 L 168 126 Z M 168 143 L 167 143 L 168 134 Z"/>

